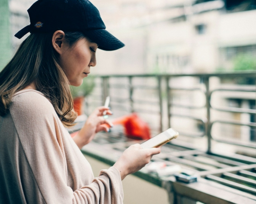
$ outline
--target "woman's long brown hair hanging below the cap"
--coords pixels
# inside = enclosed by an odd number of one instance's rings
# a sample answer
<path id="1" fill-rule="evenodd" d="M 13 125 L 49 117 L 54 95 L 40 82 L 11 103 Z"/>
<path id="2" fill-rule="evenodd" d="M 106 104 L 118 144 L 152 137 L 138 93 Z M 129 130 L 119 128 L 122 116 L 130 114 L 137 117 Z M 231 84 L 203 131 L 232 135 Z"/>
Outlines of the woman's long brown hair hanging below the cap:
<path id="1" fill-rule="evenodd" d="M 9 112 L 14 93 L 31 83 L 52 103 L 59 119 L 72 126 L 77 114 L 69 81 L 60 67 L 59 54 L 52 46 L 53 33 L 31 33 L 20 45 L 11 61 L 0 72 L 0 116 Z M 70 47 L 85 37 L 80 32 L 66 32 Z"/>

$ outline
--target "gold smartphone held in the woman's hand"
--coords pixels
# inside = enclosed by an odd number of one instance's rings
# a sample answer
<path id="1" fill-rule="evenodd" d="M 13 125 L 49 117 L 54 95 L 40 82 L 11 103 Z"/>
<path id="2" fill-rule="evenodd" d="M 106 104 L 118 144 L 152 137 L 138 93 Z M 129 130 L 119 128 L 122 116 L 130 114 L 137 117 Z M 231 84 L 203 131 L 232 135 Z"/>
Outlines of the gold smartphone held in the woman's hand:
<path id="1" fill-rule="evenodd" d="M 160 147 L 161 145 L 164 145 L 172 139 L 177 138 L 178 135 L 179 133 L 177 131 L 175 131 L 173 128 L 169 128 L 166 131 L 161 132 L 160 134 L 148 139 L 147 141 L 142 142 L 141 147 L 143 149 Z"/>

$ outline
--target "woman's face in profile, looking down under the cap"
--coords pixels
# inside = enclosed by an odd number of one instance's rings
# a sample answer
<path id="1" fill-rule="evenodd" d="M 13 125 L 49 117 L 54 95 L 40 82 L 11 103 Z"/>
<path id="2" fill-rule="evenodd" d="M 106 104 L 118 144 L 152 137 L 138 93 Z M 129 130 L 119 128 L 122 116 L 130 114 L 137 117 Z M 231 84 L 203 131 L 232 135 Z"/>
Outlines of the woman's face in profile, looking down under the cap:
<path id="1" fill-rule="evenodd" d="M 70 85 L 80 86 L 83 78 L 90 73 L 90 67 L 96 65 L 96 43 L 83 37 L 71 47 L 63 42 L 63 52 L 60 54 L 60 64 L 68 77 Z"/>

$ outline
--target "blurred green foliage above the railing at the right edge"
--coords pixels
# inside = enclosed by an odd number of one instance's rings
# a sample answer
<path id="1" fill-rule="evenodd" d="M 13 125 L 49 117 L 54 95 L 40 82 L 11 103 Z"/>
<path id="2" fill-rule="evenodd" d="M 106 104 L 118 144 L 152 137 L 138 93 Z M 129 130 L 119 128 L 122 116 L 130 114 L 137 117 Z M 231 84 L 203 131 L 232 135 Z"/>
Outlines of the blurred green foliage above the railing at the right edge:
<path id="1" fill-rule="evenodd" d="M 256 70 L 256 58 L 250 55 L 238 55 L 234 59 L 234 70 Z"/>

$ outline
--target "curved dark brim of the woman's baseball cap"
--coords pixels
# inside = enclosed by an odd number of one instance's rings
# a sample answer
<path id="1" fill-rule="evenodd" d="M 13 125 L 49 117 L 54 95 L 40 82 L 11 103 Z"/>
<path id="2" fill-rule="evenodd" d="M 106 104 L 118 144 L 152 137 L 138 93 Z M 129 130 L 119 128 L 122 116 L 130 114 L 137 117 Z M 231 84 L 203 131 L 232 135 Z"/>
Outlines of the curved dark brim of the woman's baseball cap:
<path id="1" fill-rule="evenodd" d="M 121 47 L 125 46 L 124 43 L 122 43 L 105 29 L 86 30 L 83 33 L 93 42 L 97 43 L 98 48 L 101 50 L 111 51 L 120 49 Z"/>

